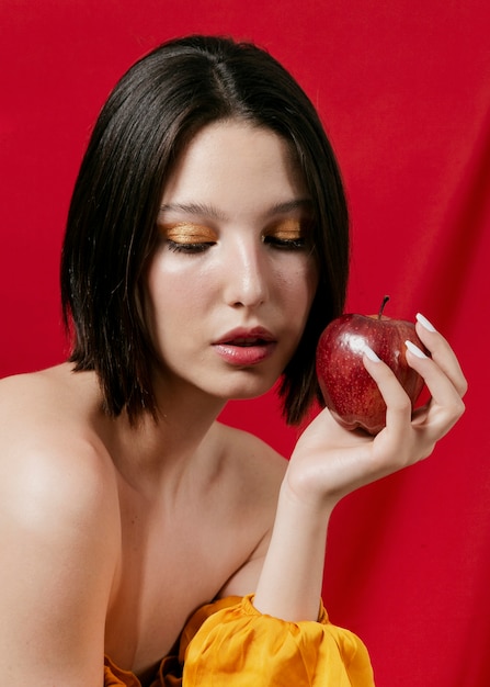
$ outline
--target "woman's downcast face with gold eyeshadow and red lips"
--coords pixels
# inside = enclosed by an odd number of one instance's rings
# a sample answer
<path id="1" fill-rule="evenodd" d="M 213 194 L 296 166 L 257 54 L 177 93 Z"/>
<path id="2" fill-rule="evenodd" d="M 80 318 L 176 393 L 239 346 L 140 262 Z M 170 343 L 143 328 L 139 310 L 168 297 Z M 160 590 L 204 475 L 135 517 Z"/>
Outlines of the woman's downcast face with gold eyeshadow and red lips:
<path id="1" fill-rule="evenodd" d="M 192 139 L 164 189 L 148 271 L 166 386 L 227 399 L 274 384 L 318 283 L 311 223 L 303 179 L 273 132 L 228 121 Z"/>

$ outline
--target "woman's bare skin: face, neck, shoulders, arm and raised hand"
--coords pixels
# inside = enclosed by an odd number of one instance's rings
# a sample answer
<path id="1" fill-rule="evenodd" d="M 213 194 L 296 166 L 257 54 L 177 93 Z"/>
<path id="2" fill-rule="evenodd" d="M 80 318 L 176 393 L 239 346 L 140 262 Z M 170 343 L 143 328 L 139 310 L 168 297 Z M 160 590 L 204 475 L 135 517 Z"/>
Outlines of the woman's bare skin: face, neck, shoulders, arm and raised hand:
<path id="1" fill-rule="evenodd" d="M 307 200 L 275 134 L 231 121 L 191 142 L 163 192 L 147 274 L 158 423 L 109 419 L 94 374 L 69 364 L 0 383 L 10 687 L 100 685 L 104 652 L 145 684 L 189 615 L 216 596 L 255 590 L 260 611 L 315 620 L 335 504 L 426 458 L 463 413 L 454 353 L 418 324 L 432 359 L 407 359 L 432 401 L 412 419 L 389 369 L 365 357 L 388 406 L 375 439 L 324 410 L 286 462 L 216 421 L 228 398 L 270 388 L 301 336 L 317 283 Z M 305 246 L 280 245 L 298 232 Z M 272 352 L 250 365 L 225 360 L 216 341 L 257 326 L 272 333 Z"/>

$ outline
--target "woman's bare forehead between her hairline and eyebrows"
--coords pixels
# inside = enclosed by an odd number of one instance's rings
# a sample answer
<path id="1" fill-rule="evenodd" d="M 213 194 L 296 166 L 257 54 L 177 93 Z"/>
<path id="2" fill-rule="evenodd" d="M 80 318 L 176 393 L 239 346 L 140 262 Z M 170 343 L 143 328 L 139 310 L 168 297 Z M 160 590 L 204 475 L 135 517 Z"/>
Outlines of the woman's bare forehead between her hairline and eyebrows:
<path id="1" fill-rule="evenodd" d="M 209 124 L 191 139 L 162 204 L 214 204 L 228 212 L 307 196 L 290 144 L 269 128 L 231 120 Z"/>

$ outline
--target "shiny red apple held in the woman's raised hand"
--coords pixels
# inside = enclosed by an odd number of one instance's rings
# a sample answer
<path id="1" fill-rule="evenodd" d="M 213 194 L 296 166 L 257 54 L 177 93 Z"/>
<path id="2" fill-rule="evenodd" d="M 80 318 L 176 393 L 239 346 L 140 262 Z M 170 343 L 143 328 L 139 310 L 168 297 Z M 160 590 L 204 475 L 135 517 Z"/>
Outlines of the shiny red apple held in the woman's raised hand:
<path id="1" fill-rule="evenodd" d="M 346 429 L 362 428 L 371 435 L 385 427 L 386 404 L 364 367 L 364 345 L 391 368 L 412 408 L 424 382 L 407 363 L 404 341 L 412 341 L 429 354 L 412 323 L 383 315 L 387 301 L 388 296 L 377 315 L 350 314 L 332 320 L 317 347 L 317 376 L 327 407 Z"/>

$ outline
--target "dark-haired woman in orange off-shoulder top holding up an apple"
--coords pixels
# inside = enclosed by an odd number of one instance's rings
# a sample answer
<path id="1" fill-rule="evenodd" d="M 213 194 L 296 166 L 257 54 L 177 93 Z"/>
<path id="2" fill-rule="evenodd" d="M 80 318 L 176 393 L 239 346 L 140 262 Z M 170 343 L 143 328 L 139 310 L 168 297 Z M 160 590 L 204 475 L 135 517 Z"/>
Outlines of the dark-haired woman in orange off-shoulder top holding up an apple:
<path id="1" fill-rule="evenodd" d="M 420 318 L 417 419 L 366 349 L 388 407 L 375 439 L 322 410 L 286 462 L 216 421 L 277 379 L 287 420 L 305 416 L 347 258 L 330 145 L 272 57 L 194 36 L 123 77 L 68 217 L 71 358 L 0 385 L 10 687 L 178 685 L 182 666 L 184 686 L 373 684 L 320 602 L 328 521 L 460 416 L 448 344 Z"/>

